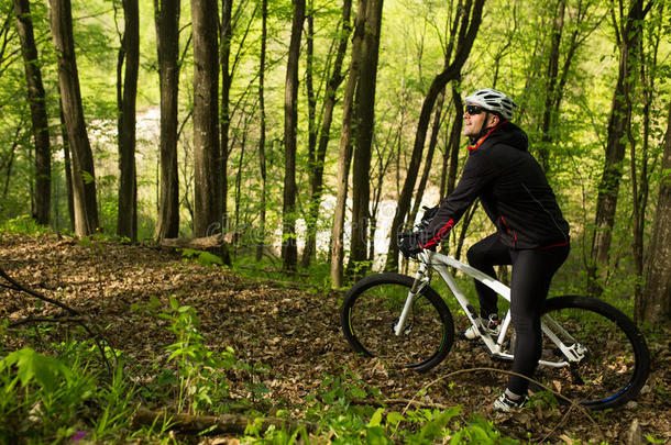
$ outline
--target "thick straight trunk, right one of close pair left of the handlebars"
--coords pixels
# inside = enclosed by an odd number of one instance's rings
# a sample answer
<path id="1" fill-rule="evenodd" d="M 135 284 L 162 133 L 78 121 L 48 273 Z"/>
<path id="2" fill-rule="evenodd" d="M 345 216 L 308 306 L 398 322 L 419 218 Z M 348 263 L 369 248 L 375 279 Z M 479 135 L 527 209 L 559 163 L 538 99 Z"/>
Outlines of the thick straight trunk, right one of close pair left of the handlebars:
<path id="1" fill-rule="evenodd" d="M 367 237 L 371 201 L 371 156 L 375 126 L 375 85 L 383 0 L 366 1 L 366 23 L 361 46 L 361 73 L 356 87 L 356 144 L 352 167 L 352 245 L 348 269 L 360 277 L 369 266 Z M 372 241 L 371 241 L 372 242 Z"/>

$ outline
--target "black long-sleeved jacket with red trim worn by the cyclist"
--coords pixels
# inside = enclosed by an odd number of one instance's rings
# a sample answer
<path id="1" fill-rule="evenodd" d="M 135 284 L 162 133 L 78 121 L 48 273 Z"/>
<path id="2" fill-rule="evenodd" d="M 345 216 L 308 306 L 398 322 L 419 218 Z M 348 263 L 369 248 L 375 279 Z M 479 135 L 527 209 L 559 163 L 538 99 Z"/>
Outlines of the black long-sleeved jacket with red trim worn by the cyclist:
<path id="1" fill-rule="evenodd" d="M 501 241 L 509 247 L 569 243 L 569 223 L 540 165 L 528 152 L 524 131 L 503 122 L 469 151 L 457 188 L 419 233 L 422 248 L 435 248 L 476 198 L 496 225 Z"/>

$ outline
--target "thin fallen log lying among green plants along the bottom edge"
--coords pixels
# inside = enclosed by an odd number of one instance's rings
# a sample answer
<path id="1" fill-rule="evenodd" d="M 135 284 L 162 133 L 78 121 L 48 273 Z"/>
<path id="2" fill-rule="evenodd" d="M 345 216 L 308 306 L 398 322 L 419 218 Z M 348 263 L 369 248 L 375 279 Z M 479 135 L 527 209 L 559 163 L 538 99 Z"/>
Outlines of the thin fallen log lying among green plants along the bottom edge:
<path id="1" fill-rule="evenodd" d="M 140 408 L 131 425 L 140 427 L 144 425 L 153 425 L 157 422 L 169 421 L 170 429 L 183 433 L 199 433 L 208 430 L 208 434 L 244 434 L 248 425 L 254 424 L 256 418 L 251 418 L 241 414 L 221 414 L 221 415 L 190 415 L 190 414 L 170 414 L 166 411 L 150 411 Z M 305 427 L 308 433 L 317 430 L 317 424 L 311 422 L 298 422 L 288 419 L 279 418 L 260 418 L 260 431 L 264 432 L 271 426 L 276 429 L 297 430 Z"/>

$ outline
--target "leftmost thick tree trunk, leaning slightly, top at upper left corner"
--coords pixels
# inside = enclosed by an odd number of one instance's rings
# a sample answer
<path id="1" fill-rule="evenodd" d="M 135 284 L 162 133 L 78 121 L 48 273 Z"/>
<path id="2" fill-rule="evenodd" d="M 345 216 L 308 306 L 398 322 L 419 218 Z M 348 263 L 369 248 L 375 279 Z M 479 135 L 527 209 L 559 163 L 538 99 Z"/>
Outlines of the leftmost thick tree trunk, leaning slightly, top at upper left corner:
<path id="1" fill-rule="evenodd" d="M 35 140 L 35 221 L 37 224 L 46 225 L 50 222 L 51 210 L 52 148 L 46 96 L 42 84 L 29 0 L 14 0 L 14 13 L 23 53 L 28 100 L 31 105 L 32 130 Z"/>

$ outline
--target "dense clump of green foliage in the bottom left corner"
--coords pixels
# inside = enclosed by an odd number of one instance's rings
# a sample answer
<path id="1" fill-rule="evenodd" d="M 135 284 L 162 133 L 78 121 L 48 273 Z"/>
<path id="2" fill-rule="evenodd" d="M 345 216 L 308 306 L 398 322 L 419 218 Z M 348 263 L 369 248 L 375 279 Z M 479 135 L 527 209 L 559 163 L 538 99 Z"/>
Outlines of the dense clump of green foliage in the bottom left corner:
<path id="1" fill-rule="evenodd" d="M 128 427 L 134 391 L 121 366 L 107 381 L 90 367 L 97 354 L 92 345 L 69 342 L 54 348 L 57 357 L 26 347 L 0 360 L 0 442 L 58 443 Z"/>

